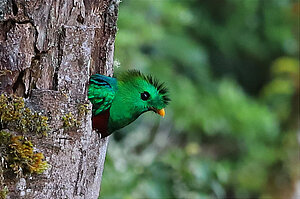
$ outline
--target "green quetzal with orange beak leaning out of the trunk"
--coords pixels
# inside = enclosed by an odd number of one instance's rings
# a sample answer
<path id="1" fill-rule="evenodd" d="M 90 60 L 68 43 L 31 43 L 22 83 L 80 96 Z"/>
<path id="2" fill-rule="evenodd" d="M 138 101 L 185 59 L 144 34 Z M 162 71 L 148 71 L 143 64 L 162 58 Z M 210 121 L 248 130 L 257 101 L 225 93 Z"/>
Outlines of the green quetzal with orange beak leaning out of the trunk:
<path id="1" fill-rule="evenodd" d="M 163 83 L 137 70 L 123 72 L 117 79 L 92 75 L 88 99 L 93 105 L 93 129 L 101 133 L 101 138 L 127 126 L 147 111 L 165 116 L 164 108 L 170 101 Z"/>

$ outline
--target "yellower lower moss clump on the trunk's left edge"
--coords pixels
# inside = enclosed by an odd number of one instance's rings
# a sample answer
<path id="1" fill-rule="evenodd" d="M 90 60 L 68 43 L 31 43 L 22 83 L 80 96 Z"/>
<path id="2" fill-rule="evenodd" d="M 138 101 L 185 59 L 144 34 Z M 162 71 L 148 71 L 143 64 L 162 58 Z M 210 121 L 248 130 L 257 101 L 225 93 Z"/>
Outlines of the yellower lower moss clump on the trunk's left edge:
<path id="1" fill-rule="evenodd" d="M 14 136 L 0 131 L 0 154 L 5 165 L 18 175 L 40 174 L 48 168 L 44 155 L 34 151 L 34 146 L 24 136 Z"/>

